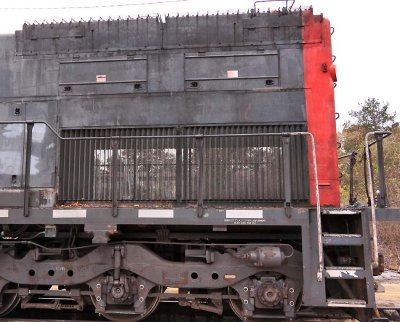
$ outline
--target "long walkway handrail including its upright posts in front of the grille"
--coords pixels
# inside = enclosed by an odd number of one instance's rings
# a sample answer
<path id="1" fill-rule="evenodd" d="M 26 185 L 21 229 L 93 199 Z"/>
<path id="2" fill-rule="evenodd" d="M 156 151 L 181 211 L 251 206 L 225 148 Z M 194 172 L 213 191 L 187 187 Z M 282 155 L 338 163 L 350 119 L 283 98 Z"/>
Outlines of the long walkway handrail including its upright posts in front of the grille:
<path id="1" fill-rule="evenodd" d="M 315 198 L 316 198 L 316 216 L 317 216 L 317 233 L 318 233 L 318 280 L 322 280 L 322 272 L 324 269 L 323 260 L 323 246 L 322 246 L 322 225 L 321 225 L 321 203 L 320 203 L 320 193 L 319 193 L 319 182 L 318 182 L 318 169 L 317 169 L 317 156 L 314 136 L 310 132 L 280 132 L 280 133 L 237 133 L 237 134 L 184 134 L 184 135 L 151 135 L 151 136 L 84 136 L 84 137 L 63 137 L 57 130 L 55 130 L 50 124 L 45 121 L 1 121 L 0 124 L 25 124 L 27 126 L 27 142 L 25 145 L 25 183 L 24 183 L 24 215 L 29 216 L 29 179 L 30 179 L 30 154 L 31 154 L 31 144 L 32 144 L 32 129 L 34 124 L 44 124 L 59 140 L 61 141 L 73 141 L 73 140 L 99 140 L 99 139 L 111 139 L 112 149 L 113 149 L 113 162 L 112 162 L 112 207 L 113 216 L 117 216 L 117 206 L 118 202 L 116 200 L 115 185 L 117 178 L 115 177 L 115 161 L 117 158 L 116 149 L 118 148 L 118 140 L 120 139 L 156 139 L 156 138 L 194 138 L 198 142 L 198 148 L 201 152 L 203 139 L 204 138 L 216 138 L 216 137 L 251 137 L 251 136 L 279 136 L 283 139 L 284 151 L 285 146 L 287 146 L 287 138 L 292 136 L 305 136 L 310 139 L 311 143 L 311 154 L 312 154 L 312 166 L 314 172 L 314 186 L 315 186 Z M 286 139 L 285 139 L 286 138 Z M 286 142 L 286 143 L 285 143 Z M 202 173 L 202 153 L 198 153 L 199 162 L 199 179 L 198 179 L 198 196 L 197 196 L 197 206 L 198 206 L 198 216 L 203 216 L 203 191 L 204 191 L 204 176 Z M 286 166 L 285 166 L 286 164 Z M 291 193 L 290 193 L 290 176 L 287 173 L 288 170 L 288 160 L 284 160 L 284 169 L 286 168 L 286 175 L 284 171 L 284 190 L 285 190 L 285 208 L 291 207 Z M 290 169 L 289 169 L 290 170 Z"/>

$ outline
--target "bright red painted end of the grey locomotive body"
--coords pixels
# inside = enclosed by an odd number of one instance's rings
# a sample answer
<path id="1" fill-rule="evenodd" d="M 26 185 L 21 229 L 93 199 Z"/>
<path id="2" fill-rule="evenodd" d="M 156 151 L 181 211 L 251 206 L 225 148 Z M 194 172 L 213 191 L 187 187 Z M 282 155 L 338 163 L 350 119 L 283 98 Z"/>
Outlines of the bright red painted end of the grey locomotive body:
<path id="1" fill-rule="evenodd" d="M 321 205 L 340 206 L 334 81 L 330 22 L 311 10 L 303 13 L 304 87 L 308 131 L 314 135 Z M 312 160 L 309 149 L 309 160 Z M 316 203 L 315 178 L 309 162 L 311 203 Z"/>

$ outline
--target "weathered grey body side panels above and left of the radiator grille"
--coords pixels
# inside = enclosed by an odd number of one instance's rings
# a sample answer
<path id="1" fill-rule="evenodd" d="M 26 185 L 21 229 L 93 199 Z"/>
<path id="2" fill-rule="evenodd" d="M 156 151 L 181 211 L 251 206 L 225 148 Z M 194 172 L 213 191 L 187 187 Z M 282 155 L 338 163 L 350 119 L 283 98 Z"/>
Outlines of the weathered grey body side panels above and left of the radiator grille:
<path id="1" fill-rule="evenodd" d="M 0 37 L 0 119 L 57 129 L 305 125 L 301 33 L 299 14 L 266 13 L 24 25 Z M 17 189 L 24 131 L 3 127 L 0 186 Z M 59 142 L 41 125 L 33 138 L 31 187 L 56 192 Z"/>

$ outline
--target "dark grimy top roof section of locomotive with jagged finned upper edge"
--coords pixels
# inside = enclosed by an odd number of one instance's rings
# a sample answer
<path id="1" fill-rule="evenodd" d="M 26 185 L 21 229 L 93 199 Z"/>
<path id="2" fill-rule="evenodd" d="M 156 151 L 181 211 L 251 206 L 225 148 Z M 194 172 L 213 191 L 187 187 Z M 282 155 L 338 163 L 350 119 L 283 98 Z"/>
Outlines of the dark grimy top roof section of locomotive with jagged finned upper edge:
<path id="1" fill-rule="evenodd" d="M 69 54 L 93 51 L 151 50 L 192 46 L 279 45 L 302 43 L 303 14 L 308 9 L 138 16 L 98 20 L 25 23 L 15 32 L 17 55 Z M 321 15 L 322 17 L 322 15 Z M 260 28 L 278 29 L 274 41 L 255 35 Z M 281 31 L 279 31 L 282 29 Z"/>

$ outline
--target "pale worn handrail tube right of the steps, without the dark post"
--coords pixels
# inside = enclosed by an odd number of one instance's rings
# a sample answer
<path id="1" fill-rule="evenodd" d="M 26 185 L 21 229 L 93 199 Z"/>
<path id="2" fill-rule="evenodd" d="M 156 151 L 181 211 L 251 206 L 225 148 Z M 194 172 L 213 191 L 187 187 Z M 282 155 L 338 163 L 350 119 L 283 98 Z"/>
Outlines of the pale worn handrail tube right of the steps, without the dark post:
<path id="1" fill-rule="evenodd" d="M 372 244 L 373 244 L 373 257 L 372 257 L 372 267 L 376 268 L 379 265 L 379 253 L 378 253 L 378 234 L 376 229 L 376 210 L 375 210 L 375 198 L 374 198 L 374 187 L 372 184 L 372 170 L 371 170 L 371 157 L 369 153 L 369 148 L 371 145 L 375 144 L 377 140 L 368 143 L 368 138 L 371 135 L 383 135 L 388 137 L 392 133 L 389 131 L 372 131 L 365 134 L 365 156 L 367 159 L 367 180 L 369 186 L 369 198 L 371 200 L 371 221 L 372 221 Z"/>

